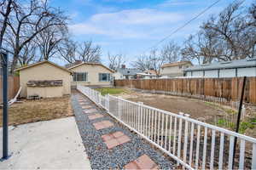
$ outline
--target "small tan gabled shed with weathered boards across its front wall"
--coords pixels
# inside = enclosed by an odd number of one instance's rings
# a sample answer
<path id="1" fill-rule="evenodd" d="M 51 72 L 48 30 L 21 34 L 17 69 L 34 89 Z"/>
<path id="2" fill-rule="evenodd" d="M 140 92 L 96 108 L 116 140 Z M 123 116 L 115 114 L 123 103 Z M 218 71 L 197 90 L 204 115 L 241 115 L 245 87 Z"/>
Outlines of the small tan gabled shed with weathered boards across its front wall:
<path id="1" fill-rule="evenodd" d="M 41 61 L 15 71 L 20 74 L 20 97 L 51 98 L 71 94 L 72 72 L 52 62 Z"/>

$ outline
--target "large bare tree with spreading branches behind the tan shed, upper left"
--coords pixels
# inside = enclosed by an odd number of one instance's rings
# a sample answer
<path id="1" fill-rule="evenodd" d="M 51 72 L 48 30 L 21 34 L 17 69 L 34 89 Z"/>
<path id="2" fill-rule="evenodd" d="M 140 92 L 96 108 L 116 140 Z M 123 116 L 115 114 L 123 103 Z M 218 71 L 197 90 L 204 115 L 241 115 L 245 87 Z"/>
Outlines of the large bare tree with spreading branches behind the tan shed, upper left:
<path id="1" fill-rule="evenodd" d="M 40 32 L 50 26 L 66 24 L 67 17 L 58 8 L 49 7 L 48 1 L 31 0 L 30 3 L 16 4 L 8 18 L 9 37 L 6 41 L 13 45 L 11 72 L 17 65 L 20 51 Z"/>

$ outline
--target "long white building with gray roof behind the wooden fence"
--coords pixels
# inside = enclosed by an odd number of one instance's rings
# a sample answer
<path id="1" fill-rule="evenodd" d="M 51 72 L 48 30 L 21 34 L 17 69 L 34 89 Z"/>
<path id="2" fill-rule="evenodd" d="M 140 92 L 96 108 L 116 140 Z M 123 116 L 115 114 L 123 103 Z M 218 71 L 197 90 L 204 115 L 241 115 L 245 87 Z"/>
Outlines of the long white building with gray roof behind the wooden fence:
<path id="1" fill-rule="evenodd" d="M 195 65 L 184 71 L 186 77 L 256 77 L 256 58 Z"/>

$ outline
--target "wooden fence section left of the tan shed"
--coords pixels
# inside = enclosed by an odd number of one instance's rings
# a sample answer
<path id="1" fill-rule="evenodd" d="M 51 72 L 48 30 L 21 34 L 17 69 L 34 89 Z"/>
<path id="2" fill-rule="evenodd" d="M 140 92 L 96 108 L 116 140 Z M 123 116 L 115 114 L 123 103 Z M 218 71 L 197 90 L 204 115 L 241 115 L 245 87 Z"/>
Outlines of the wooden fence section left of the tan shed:
<path id="1" fill-rule="evenodd" d="M 3 77 L 0 77 L 0 103 L 3 102 Z M 8 96 L 12 99 L 20 88 L 20 78 L 15 76 L 8 77 Z"/>

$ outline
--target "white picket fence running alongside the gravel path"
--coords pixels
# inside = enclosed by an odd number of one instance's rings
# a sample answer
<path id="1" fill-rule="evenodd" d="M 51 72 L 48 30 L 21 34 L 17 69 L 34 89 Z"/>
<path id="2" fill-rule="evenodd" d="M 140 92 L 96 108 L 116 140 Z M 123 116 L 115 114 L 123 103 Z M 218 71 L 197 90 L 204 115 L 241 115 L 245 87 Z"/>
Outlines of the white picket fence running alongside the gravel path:
<path id="1" fill-rule="evenodd" d="M 174 114 L 112 95 L 102 96 L 87 87 L 78 86 L 78 90 L 171 156 L 177 165 L 188 169 L 256 169 L 254 138 L 199 122 L 183 113 Z"/>

